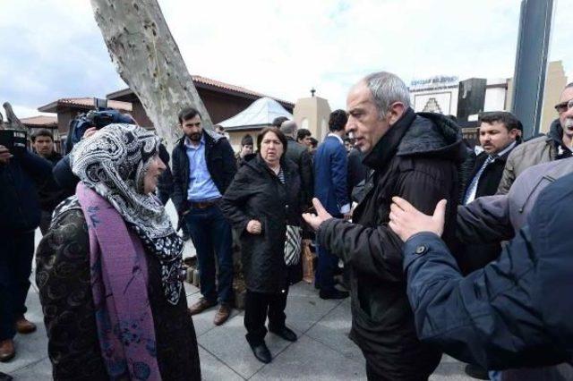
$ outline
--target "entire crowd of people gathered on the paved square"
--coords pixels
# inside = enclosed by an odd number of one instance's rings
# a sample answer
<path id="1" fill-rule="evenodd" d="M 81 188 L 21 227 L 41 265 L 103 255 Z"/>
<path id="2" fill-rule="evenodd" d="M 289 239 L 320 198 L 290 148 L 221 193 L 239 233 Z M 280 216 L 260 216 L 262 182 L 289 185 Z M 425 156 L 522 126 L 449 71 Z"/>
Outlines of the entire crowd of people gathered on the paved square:
<path id="1" fill-rule="evenodd" d="M 39 227 L 55 379 L 201 379 L 192 316 L 230 318 L 235 245 L 246 344 L 271 362 L 268 331 L 297 340 L 285 311 L 309 242 L 319 296 L 351 299 L 368 379 L 427 379 L 442 353 L 476 378 L 572 379 L 573 83 L 555 108 L 529 140 L 515 115 L 483 113 L 473 147 L 455 117 L 415 113 L 405 83 L 376 72 L 321 142 L 280 117 L 235 152 L 187 106 L 171 156 L 116 112 L 70 131 L 65 156 L 45 130 L 30 150 L 0 146 L 0 361 L 16 332 L 36 330 L 24 314 Z M 201 291 L 191 306 L 187 237 Z"/>

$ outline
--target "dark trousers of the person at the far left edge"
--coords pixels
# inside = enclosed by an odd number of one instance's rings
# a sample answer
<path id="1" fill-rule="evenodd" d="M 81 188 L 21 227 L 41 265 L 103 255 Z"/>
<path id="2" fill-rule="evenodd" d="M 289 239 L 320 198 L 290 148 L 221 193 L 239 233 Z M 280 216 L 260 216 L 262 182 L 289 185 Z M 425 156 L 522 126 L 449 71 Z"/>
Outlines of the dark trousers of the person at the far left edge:
<path id="1" fill-rule="evenodd" d="M 16 318 L 26 312 L 34 232 L 0 232 L 0 340 L 12 339 Z"/>

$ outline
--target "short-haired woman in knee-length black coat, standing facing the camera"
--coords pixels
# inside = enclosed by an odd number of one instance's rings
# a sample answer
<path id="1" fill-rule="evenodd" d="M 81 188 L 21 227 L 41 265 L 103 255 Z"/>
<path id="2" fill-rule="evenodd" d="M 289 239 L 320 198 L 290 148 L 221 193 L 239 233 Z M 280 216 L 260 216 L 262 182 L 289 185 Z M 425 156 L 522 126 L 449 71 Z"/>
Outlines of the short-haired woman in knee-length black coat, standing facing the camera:
<path id="1" fill-rule="evenodd" d="M 246 339 L 255 357 L 268 363 L 272 357 L 264 342 L 267 317 L 270 332 L 296 340 L 285 326 L 285 237 L 287 224 L 300 224 L 300 177 L 296 165 L 283 156 L 286 137 L 281 131 L 266 128 L 259 141 L 259 153 L 244 162 L 220 207 L 241 240 Z"/>

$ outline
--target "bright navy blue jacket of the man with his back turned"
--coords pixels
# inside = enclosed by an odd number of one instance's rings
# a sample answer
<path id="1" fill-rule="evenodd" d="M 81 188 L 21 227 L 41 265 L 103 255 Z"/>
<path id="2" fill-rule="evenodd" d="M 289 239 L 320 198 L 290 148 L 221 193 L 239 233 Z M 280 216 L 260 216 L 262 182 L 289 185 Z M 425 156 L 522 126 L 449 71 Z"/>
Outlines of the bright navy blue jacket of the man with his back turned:
<path id="1" fill-rule="evenodd" d="M 346 190 L 347 158 L 344 144 L 327 136 L 314 153 L 314 197 L 332 216 L 340 216 L 340 207 L 350 203 Z"/>

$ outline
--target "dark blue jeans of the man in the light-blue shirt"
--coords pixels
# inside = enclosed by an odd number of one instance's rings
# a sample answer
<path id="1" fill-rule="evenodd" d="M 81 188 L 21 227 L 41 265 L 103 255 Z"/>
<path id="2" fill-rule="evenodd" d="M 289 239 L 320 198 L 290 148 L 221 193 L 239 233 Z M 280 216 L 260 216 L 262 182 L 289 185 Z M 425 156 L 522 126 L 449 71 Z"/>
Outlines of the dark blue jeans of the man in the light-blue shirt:
<path id="1" fill-rule="evenodd" d="M 231 225 L 217 205 L 192 208 L 185 223 L 197 251 L 201 294 L 208 301 L 233 301 L 233 237 Z M 215 277 L 218 261 L 217 285 Z"/>

